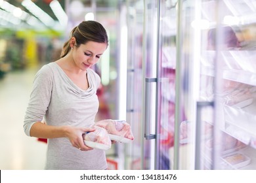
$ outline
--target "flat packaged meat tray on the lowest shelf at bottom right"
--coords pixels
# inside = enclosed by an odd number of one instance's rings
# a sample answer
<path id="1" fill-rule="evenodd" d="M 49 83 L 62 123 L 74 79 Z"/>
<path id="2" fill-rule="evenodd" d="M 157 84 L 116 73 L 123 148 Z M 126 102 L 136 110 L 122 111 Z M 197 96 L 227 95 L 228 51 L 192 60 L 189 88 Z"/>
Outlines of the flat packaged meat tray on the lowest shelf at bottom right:
<path id="1" fill-rule="evenodd" d="M 231 154 L 231 155 L 225 156 L 223 158 L 223 160 L 226 163 L 228 163 L 228 165 L 230 165 L 231 167 L 234 167 L 236 169 L 244 167 L 251 162 L 251 159 L 242 153 Z"/>

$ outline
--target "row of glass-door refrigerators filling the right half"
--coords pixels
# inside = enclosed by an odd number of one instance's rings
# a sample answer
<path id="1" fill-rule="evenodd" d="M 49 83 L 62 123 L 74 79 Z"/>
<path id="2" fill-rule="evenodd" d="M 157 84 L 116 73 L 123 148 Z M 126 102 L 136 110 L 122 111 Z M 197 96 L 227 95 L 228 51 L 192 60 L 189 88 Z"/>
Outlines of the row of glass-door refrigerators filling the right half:
<path id="1" fill-rule="evenodd" d="M 256 1 L 129 1 L 125 169 L 256 169 Z"/>

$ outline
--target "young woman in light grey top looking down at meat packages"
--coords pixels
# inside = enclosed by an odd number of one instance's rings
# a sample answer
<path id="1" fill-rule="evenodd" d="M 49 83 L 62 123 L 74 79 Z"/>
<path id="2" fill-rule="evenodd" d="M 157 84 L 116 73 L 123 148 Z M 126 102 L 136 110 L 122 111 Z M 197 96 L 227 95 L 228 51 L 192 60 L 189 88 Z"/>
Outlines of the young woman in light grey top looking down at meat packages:
<path id="1" fill-rule="evenodd" d="M 107 169 L 104 150 L 83 142 L 83 134 L 95 130 L 90 125 L 98 111 L 100 77 L 91 67 L 107 46 L 108 36 L 101 24 L 81 22 L 70 33 L 61 58 L 35 75 L 24 131 L 48 139 L 46 169 Z"/>

